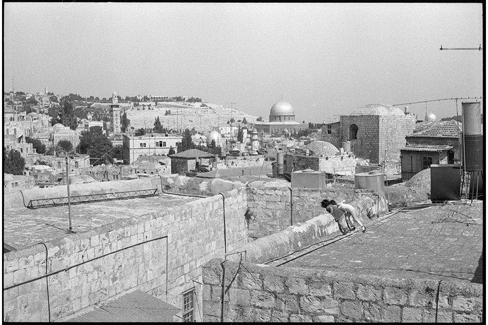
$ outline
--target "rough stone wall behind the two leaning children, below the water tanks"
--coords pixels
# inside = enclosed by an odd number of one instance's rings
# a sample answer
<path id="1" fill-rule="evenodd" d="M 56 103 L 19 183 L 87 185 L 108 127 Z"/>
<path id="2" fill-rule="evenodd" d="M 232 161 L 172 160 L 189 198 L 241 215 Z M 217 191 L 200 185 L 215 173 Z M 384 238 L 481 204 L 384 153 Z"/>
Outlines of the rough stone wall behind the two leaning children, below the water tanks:
<path id="1" fill-rule="evenodd" d="M 248 192 L 248 208 L 253 215 L 249 222 L 249 238 L 256 239 L 285 230 L 291 225 L 291 192 L 289 185 L 266 184 L 263 181 L 255 181 L 246 187 Z M 358 193 L 353 189 L 344 190 L 340 193 L 330 190 L 319 190 L 310 188 L 293 189 L 293 224 L 310 220 L 322 213 L 322 200 L 334 199 L 336 201 L 346 200 L 347 203 L 360 209 L 360 217 L 379 214 L 388 211 L 386 199 L 383 192 L 377 192 L 380 203 L 375 196 L 368 196 L 371 201 L 365 198 L 359 200 Z M 362 196 L 362 193 L 360 193 Z M 374 211 L 373 211 L 374 210 Z"/>

